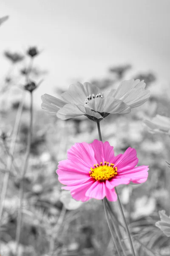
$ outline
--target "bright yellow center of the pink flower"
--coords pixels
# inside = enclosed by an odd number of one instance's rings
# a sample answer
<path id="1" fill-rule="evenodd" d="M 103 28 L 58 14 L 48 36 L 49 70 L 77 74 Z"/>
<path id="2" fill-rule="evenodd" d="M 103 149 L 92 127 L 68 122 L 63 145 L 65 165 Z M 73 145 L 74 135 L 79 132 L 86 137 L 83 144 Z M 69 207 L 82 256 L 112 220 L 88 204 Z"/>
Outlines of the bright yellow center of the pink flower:
<path id="1" fill-rule="evenodd" d="M 117 175 L 117 167 L 114 167 L 114 164 L 111 163 L 109 166 L 108 162 L 101 162 L 100 165 L 94 164 L 94 168 L 91 167 L 90 177 L 94 178 L 95 180 L 110 180 L 114 176 Z"/>

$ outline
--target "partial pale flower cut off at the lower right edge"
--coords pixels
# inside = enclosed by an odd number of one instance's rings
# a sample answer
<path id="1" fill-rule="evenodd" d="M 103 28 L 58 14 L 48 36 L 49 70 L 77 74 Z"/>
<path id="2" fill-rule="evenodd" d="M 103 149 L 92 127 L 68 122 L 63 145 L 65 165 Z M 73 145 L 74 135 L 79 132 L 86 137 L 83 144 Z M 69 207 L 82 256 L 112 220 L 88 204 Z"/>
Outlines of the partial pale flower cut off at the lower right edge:
<path id="1" fill-rule="evenodd" d="M 170 236 L 170 217 L 165 214 L 164 210 L 159 211 L 160 221 L 156 222 L 156 227 L 166 235 Z"/>

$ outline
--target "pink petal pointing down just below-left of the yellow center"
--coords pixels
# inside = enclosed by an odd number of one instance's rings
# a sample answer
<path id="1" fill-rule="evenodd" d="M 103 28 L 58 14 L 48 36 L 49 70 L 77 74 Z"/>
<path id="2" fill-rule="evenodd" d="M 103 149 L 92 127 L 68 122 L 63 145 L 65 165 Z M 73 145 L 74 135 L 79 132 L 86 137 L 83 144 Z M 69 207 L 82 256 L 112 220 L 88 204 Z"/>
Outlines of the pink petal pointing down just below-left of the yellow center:
<path id="1" fill-rule="evenodd" d="M 85 195 L 101 200 L 106 196 L 106 189 L 105 182 L 95 181 L 86 191 Z"/>

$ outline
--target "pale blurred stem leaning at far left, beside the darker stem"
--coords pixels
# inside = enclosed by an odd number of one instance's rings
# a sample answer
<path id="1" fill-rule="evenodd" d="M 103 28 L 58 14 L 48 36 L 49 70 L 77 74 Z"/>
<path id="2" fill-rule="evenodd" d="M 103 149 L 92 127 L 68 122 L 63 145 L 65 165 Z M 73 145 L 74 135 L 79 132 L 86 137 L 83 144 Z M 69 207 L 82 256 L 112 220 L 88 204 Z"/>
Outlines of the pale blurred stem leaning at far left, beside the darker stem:
<path id="1" fill-rule="evenodd" d="M 17 110 L 17 116 L 15 119 L 14 130 L 12 133 L 11 144 L 10 144 L 10 148 L 9 148 L 10 155 L 8 155 L 7 164 L 6 164 L 7 172 L 3 179 L 3 187 L 1 190 L 1 197 L 0 197 L 0 223 L 1 223 L 1 218 L 2 218 L 2 214 L 3 214 L 3 207 L 4 207 L 4 201 L 6 198 L 6 191 L 8 188 L 8 180 L 9 180 L 10 170 L 11 170 L 11 166 L 12 166 L 12 162 L 13 162 L 13 158 L 11 156 L 13 156 L 14 150 L 15 150 L 18 131 L 20 128 L 21 115 L 23 112 L 24 101 L 25 101 L 25 91 L 23 91 L 22 101 L 20 102 L 20 105 Z"/>

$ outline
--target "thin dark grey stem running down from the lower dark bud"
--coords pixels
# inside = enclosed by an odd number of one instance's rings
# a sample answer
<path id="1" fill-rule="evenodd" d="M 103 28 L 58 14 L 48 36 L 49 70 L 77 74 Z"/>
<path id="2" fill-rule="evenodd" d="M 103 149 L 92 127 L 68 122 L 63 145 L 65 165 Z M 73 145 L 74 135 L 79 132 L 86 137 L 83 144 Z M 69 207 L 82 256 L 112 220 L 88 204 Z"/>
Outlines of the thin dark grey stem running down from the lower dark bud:
<path id="1" fill-rule="evenodd" d="M 31 139 L 32 139 L 32 121 L 33 121 L 33 95 L 31 94 L 31 102 L 30 102 L 30 123 L 28 130 L 28 141 L 26 148 L 26 159 L 23 166 L 23 170 L 21 173 L 21 181 L 20 181 L 20 191 L 19 191 L 19 208 L 18 208 L 18 216 L 17 216 L 17 229 L 16 229 L 16 255 L 18 255 L 19 242 L 20 242 L 20 232 L 21 232 L 21 224 L 22 224 L 22 203 L 23 203 L 23 194 L 24 194 L 24 177 L 26 175 L 28 160 L 30 156 L 31 149 Z"/>

